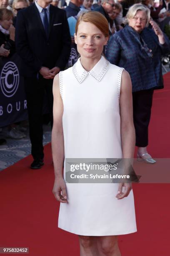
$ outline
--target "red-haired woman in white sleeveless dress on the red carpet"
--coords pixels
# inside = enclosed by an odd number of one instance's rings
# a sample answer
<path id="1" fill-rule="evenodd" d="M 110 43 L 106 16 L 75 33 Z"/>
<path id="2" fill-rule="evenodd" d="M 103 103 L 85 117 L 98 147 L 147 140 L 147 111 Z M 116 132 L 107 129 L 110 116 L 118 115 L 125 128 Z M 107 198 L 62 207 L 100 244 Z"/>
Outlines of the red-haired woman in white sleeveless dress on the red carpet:
<path id="1" fill-rule="evenodd" d="M 60 202 L 58 227 L 78 235 L 81 256 L 120 256 L 117 235 L 136 232 L 131 183 L 67 183 L 65 179 L 67 158 L 133 158 L 131 80 L 128 72 L 102 56 L 108 37 L 105 17 L 94 11 L 84 13 L 75 32 L 80 58 L 57 74 L 53 83 L 53 193 Z"/>

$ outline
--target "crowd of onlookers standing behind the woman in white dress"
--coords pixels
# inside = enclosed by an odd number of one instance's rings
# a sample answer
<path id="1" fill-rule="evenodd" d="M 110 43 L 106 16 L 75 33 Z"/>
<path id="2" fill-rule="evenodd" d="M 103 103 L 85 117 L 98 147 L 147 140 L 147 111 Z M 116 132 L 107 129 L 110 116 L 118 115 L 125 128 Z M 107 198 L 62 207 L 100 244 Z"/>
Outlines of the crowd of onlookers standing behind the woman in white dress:
<path id="1" fill-rule="evenodd" d="M 133 84 L 133 112 L 138 158 L 154 163 L 148 154 L 148 125 L 154 89 L 163 88 L 161 56 L 169 54 L 165 28 L 170 23 L 170 0 L 0 0 L 0 58 L 17 53 L 22 60 L 28 102 L 32 156 L 31 168 L 43 165 L 42 108 L 46 95 L 53 123 L 52 83 L 56 74 L 77 61 L 69 61 L 76 49 L 77 19 L 89 10 L 102 13 L 109 24 L 110 40 L 103 54 L 124 67 Z M 56 8 L 57 7 L 57 8 Z M 134 10 L 130 8 L 134 7 Z M 132 11 L 133 10 L 133 11 Z M 71 63 L 71 64 L 70 64 Z M 147 63 L 147 64 L 146 64 Z M 2 128 L 0 128 L 2 130 Z M 7 137 L 21 139 L 22 123 L 6 128 Z M 0 138 L 0 144 L 6 143 Z"/>

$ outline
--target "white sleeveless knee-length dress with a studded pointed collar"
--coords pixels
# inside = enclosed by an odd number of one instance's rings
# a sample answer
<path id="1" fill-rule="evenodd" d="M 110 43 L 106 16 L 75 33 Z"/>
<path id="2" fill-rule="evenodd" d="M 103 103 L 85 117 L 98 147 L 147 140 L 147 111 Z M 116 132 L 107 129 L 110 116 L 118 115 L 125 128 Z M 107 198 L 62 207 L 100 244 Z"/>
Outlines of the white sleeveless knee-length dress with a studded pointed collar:
<path id="1" fill-rule="evenodd" d="M 123 68 L 103 56 L 87 72 L 80 59 L 60 72 L 65 158 L 122 158 L 120 82 Z M 64 164 L 65 179 L 65 164 Z M 66 183 L 58 227 L 83 236 L 136 232 L 133 190 L 117 200 L 118 184 Z"/>

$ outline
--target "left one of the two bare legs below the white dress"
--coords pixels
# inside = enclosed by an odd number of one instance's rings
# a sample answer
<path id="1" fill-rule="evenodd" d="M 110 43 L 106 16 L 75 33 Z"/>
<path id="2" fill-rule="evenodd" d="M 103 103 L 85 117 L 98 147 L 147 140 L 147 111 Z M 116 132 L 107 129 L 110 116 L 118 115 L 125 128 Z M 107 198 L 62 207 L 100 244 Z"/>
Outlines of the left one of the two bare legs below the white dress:
<path id="1" fill-rule="evenodd" d="M 80 256 L 99 256 L 95 236 L 78 236 L 80 243 Z"/>

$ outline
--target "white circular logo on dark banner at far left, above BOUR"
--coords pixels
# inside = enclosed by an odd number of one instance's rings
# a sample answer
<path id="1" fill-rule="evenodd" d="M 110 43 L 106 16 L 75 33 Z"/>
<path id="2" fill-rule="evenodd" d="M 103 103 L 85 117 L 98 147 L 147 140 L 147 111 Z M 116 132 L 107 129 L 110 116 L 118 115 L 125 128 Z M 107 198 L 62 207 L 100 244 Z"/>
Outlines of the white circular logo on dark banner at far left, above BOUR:
<path id="1" fill-rule="evenodd" d="M 6 97 L 12 97 L 18 89 L 20 76 L 18 67 L 12 62 L 8 61 L 2 69 L 0 75 L 0 87 L 2 93 Z"/>

